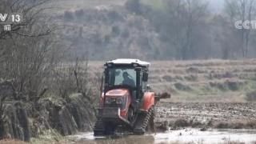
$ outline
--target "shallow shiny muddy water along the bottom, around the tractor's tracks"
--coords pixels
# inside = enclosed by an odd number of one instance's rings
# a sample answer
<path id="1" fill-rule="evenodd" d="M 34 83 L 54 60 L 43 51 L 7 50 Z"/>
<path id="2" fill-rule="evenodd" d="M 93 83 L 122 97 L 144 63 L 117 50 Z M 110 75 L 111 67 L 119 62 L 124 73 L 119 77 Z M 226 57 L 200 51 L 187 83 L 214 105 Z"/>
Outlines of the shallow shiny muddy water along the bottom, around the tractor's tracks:
<path id="1" fill-rule="evenodd" d="M 144 144 L 144 143 L 256 143 L 256 130 L 170 130 L 166 133 L 129 135 L 119 138 L 94 137 L 93 133 L 81 133 L 67 137 L 73 143 L 88 144 Z"/>

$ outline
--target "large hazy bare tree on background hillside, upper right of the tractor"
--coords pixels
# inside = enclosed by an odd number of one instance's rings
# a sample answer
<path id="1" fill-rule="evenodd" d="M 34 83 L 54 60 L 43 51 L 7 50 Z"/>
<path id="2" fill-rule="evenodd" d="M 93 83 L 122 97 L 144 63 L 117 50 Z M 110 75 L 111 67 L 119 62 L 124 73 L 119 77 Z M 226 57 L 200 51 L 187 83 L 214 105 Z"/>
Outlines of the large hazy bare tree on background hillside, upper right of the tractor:
<path id="1" fill-rule="evenodd" d="M 200 0 L 170 0 L 169 8 L 170 30 L 169 37 L 176 47 L 178 59 L 193 57 L 197 29 L 204 18 L 208 4 Z"/>

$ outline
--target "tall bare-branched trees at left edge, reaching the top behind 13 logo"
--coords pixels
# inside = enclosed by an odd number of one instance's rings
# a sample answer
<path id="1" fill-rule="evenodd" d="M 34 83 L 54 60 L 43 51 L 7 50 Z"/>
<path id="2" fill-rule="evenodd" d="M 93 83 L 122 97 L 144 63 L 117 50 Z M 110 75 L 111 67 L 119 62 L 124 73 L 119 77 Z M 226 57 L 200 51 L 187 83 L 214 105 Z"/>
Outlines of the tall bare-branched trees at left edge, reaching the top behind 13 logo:
<path id="1" fill-rule="evenodd" d="M 58 62 L 56 26 L 42 13 L 47 10 L 47 2 L 50 1 L 3 2 L 2 11 L 24 14 L 22 23 L 13 25 L 11 31 L 0 31 L 0 78 L 13 80 L 16 100 L 35 100 L 45 94 L 43 84 Z"/>

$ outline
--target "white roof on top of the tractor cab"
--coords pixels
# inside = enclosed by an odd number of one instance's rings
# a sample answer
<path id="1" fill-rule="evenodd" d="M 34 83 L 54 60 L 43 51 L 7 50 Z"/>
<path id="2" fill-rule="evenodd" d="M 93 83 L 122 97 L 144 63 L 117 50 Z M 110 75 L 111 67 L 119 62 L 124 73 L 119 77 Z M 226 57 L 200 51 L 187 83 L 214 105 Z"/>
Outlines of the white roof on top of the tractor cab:
<path id="1" fill-rule="evenodd" d="M 120 59 L 115 59 L 115 60 L 106 62 L 106 64 L 110 64 L 110 63 L 114 65 L 138 64 L 140 66 L 150 66 L 150 62 L 144 62 L 139 59 L 129 59 L 129 58 L 120 58 Z"/>

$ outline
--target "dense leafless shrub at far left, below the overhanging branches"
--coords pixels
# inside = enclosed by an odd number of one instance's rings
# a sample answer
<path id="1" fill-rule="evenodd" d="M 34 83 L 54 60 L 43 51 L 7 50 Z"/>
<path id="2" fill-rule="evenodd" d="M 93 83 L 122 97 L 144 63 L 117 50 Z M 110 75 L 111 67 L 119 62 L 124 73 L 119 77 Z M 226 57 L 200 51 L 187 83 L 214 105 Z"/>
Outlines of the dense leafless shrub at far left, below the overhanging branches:
<path id="1" fill-rule="evenodd" d="M 10 51 L 0 63 L 4 68 L 0 77 L 14 78 L 14 90 L 18 93 L 29 98 L 45 93 L 46 79 L 57 65 L 59 54 L 54 48 L 56 42 L 50 38 L 16 38 L 18 41 L 7 45 Z"/>

